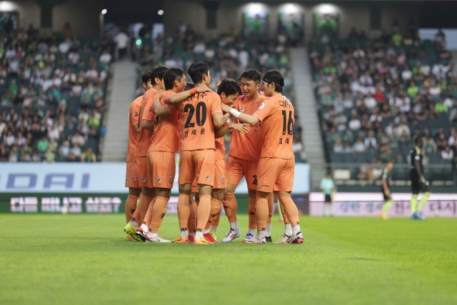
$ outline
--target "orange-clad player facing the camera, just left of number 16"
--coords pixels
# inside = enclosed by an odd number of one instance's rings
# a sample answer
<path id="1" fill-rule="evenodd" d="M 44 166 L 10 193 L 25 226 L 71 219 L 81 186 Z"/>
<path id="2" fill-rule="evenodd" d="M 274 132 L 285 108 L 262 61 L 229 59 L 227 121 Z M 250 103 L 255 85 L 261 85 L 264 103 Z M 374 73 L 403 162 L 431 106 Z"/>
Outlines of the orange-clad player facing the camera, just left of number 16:
<path id="1" fill-rule="evenodd" d="M 253 114 L 265 101 L 266 97 L 258 94 L 260 89 L 261 74 L 256 69 L 248 69 L 241 74 L 241 93 L 235 101 L 234 109 L 243 114 Z M 235 123 L 243 123 L 235 119 Z M 249 126 L 250 132 L 233 134 L 227 160 L 227 180 L 229 182 L 224 209 L 230 222 L 230 231 L 222 242 L 231 242 L 241 236 L 241 230 L 236 220 L 238 204 L 235 198 L 235 189 L 243 176 L 248 184 L 248 216 L 249 227 L 246 239 L 251 239 L 256 231 L 256 185 L 257 185 L 257 164 L 261 155 L 262 124 Z M 273 198 L 271 198 L 273 200 Z M 273 204 L 271 204 L 273 206 Z"/>

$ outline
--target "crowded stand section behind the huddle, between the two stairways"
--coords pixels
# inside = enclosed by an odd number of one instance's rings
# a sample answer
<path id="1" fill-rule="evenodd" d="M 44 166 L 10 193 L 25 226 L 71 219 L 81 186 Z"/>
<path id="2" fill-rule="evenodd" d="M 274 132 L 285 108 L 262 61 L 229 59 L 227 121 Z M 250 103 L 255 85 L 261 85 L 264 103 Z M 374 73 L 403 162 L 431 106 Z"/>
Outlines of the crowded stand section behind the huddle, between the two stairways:
<path id="1" fill-rule="evenodd" d="M 291 76 L 291 60 L 288 53 L 290 41 L 285 37 L 278 39 L 245 39 L 236 33 L 224 34 L 217 39 L 208 39 L 195 34 L 192 30 L 179 31 L 176 36 L 157 36 L 154 44 L 145 44 L 141 50 L 137 69 L 138 91 L 140 95 L 141 74 L 153 66 L 178 66 L 184 71 L 194 62 L 205 61 L 210 65 L 211 87 L 216 88 L 217 81 L 229 77 L 238 80 L 245 69 L 257 69 L 261 74 L 271 69 L 278 69 L 284 76 L 283 94 L 294 102 L 293 79 Z M 187 81 L 191 81 L 186 76 Z M 306 154 L 301 143 L 301 127 L 296 118 L 293 128 L 293 151 L 297 162 L 306 161 Z M 226 136 L 227 153 L 230 146 L 230 135 Z"/>

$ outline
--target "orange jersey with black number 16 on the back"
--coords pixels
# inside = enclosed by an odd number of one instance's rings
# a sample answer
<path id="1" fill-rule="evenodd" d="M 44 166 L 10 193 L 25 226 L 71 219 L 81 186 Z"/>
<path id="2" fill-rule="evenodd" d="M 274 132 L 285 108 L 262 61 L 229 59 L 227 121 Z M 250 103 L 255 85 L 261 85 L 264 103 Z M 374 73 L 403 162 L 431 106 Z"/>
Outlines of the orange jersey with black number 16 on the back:
<path id="1" fill-rule="evenodd" d="M 253 114 L 263 124 L 261 157 L 295 159 L 292 151 L 292 127 L 295 111 L 285 96 L 266 99 Z"/>

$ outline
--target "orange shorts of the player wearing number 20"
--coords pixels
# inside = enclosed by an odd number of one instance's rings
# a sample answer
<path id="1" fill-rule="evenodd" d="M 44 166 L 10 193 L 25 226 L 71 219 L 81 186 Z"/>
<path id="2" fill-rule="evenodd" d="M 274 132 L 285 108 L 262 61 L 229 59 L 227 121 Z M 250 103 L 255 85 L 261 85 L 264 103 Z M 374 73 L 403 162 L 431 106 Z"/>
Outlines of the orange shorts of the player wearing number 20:
<path id="1" fill-rule="evenodd" d="M 214 184 L 214 149 L 181 151 L 179 159 L 179 184 L 192 183 L 213 186 Z"/>

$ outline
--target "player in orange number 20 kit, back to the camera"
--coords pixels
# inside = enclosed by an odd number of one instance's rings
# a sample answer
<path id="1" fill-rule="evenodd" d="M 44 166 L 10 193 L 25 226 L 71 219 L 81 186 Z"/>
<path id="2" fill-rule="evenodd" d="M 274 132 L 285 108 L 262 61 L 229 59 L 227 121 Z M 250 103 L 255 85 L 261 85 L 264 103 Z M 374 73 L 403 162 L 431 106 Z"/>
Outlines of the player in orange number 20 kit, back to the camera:
<path id="1" fill-rule="evenodd" d="M 183 74 L 184 75 L 184 74 Z M 199 208 L 196 211 L 196 236 L 194 244 L 210 244 L 203 236 L 211 211 L 211 191 L 214 185 L 215 136 L 214 126 L 223 126 L 229 114 L 223 115 L 221 98 L 216 92 L 199 92 L 208 89 L 211 76 L 206 63 L 195 63 L 189 67 L 189 76 L 195 87 L 191 96 L 179 103 L 181 121 L 181 156 L 179 159 L 179 201 L 178 219 L 181 235 L 175 243 L 189 243 L 187 234 L 189 221 L 189 200 L 194 178 L 199 186 Z"/>

